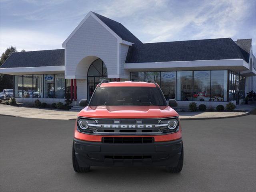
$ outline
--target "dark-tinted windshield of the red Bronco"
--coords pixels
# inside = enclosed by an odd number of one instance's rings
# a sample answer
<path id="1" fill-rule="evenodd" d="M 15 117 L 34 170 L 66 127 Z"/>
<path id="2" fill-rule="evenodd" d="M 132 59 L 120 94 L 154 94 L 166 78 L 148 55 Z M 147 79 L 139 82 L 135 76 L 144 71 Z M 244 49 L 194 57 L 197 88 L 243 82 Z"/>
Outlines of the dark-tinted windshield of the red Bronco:
<path id="1" fill-rule="evenodd" d="M 90 106 L 167 106 L 157 87 L 98 87 Z"/>

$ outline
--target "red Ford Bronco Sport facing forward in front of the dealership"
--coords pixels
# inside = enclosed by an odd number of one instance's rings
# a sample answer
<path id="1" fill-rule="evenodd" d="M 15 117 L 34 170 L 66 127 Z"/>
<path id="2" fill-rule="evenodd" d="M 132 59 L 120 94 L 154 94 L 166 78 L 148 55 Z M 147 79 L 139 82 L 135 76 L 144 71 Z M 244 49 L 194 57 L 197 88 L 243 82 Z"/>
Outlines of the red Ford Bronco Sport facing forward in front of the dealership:
<path id="1" fill-rule="evenodd" d="M 169 105 L 176 106 L 176 100 Z M 166 166 L 180 172 L 179 115 L 154 80 L 102 80 L 78 113 L 72 160 L 75 172 L 88 172 L 90 166 Z"/>

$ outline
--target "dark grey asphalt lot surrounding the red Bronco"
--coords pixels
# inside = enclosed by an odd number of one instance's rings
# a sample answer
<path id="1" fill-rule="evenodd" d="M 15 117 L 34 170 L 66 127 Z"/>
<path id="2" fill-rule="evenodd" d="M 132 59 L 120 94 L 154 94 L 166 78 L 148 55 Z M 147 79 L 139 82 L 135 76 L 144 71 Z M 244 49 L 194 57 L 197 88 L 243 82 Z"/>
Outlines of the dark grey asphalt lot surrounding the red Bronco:
<path id="1" fill-rule="evenodd" d="M 1 192 L 256 191 L 256 115 L 182 121 L 184 167 L 73 171 L 73 120 L 0 116 Z"/>

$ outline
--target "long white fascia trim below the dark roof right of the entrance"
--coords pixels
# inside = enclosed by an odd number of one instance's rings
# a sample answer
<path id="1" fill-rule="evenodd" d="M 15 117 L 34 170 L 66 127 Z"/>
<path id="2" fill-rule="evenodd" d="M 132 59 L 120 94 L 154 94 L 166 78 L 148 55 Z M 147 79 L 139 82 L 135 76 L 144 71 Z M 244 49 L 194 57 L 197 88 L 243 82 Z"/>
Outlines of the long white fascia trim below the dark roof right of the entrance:
<path id="1" fill-rule="evenodd" d="M 229 60 L 199 60 L 199 61 L 172 61 L 172 62 L 147 62 L 147 63 L 125 63 L 124 69 L 160 69 L 160 68 L 196 68 L 196 67 L 218 67 L 218 66 L 242 66 L 244 70 L 249 68 L 243 59 Z"/>

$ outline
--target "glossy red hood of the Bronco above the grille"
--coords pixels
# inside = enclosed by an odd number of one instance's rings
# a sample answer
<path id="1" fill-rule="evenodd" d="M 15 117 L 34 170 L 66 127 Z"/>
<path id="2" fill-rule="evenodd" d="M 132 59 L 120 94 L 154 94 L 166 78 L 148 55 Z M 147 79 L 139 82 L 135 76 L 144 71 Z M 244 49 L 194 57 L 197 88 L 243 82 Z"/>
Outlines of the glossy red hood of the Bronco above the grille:
<path id="1" fill-rule="evenodd" d="M 166 118 L 178 116 L 170 106 L 87 106 L 78 116 L 90 118 Z"/>

